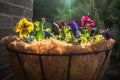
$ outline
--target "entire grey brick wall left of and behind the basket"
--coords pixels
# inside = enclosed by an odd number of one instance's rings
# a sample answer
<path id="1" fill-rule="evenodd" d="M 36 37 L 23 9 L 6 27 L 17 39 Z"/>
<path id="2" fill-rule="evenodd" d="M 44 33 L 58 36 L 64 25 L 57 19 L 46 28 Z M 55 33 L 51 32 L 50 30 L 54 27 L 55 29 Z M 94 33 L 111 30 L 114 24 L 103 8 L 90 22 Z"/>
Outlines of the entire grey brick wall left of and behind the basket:
<path id="1" fill-rule="evenodd" d="M 22 17 L 32 16 L 33 0 L 0 0 L 0 80 L 15 80 L 1 38 L 15 34 L 13 28 Z"/>

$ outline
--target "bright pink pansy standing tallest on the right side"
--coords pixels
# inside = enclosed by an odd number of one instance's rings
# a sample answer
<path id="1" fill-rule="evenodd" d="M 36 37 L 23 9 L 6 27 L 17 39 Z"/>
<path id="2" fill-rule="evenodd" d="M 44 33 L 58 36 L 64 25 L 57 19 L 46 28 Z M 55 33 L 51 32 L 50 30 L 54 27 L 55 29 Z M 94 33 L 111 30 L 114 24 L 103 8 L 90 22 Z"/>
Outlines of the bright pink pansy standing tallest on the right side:
<path id="1" fill-rule="evenodd" d="M 93 28 L 95 26 L 95 22 L 91 20 L 90 17 L 88 16 L 83 16 L 81 18 L 81 23 L 82 23 L 82 27 L 83 28 L 85 27 L 87 29 Z"/>

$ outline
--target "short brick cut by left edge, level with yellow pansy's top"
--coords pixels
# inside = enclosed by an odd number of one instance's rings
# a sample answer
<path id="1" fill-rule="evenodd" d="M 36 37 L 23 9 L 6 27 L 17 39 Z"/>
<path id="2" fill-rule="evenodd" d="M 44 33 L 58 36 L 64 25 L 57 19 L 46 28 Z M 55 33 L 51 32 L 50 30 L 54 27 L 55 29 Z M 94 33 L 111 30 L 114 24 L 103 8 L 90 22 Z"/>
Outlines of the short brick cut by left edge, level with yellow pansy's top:
<path id="1" fill-rule="evenodd" d="M 11 18 L 0 15 L 0 27 L 11 27 Z"/>

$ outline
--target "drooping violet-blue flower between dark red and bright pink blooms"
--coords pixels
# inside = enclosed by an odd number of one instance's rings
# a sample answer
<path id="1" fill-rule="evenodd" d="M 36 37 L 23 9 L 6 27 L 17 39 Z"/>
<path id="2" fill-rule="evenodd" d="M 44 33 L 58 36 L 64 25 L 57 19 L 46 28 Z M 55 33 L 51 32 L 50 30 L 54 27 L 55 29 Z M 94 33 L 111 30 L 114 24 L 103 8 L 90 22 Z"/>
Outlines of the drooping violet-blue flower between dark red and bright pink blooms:
<path id="1" fill-rule="evenodd" d="M 72 21 L 71 23 L 68 23 L 68 26 L 72 29 L 72 32 L 75 38 L 79 38 L 80 36 L 77 33 L 77 31 L 79 30 L 77 22 Z"/>

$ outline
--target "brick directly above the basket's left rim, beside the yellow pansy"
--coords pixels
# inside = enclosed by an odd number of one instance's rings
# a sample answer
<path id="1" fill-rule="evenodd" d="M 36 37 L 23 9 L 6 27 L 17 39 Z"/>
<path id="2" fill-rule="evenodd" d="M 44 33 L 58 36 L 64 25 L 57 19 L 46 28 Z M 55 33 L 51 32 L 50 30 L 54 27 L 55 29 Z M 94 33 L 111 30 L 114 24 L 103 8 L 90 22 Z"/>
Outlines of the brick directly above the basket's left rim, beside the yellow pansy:
<path id="1" fill-rule="evenodd" d="M 13 29 L 0 29 L 0 39 L 5 36 L 15 35 Z"/>

